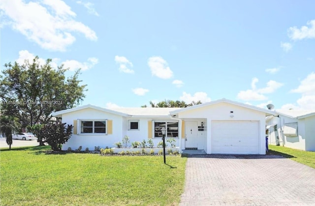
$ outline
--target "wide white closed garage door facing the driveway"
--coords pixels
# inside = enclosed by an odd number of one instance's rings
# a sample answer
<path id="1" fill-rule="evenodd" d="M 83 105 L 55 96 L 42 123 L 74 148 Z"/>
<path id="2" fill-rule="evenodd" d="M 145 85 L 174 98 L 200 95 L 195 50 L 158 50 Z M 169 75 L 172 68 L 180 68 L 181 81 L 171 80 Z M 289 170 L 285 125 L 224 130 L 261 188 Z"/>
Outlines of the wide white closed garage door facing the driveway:
<path id="1" fill-rule="evenodd" d="M 213 154 L 258 154 L 258 121 L 212 121 Z"/>

